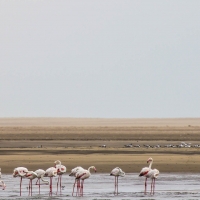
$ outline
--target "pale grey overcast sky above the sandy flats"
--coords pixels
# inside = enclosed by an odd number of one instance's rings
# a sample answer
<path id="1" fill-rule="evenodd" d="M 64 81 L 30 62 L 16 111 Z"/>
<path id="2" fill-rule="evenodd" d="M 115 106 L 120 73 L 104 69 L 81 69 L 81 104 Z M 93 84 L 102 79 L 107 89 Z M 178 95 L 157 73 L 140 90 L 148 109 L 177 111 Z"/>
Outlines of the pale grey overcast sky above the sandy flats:
<path id="1" fill-rule="evenodd" d="M 200 1 L 1 0 L 0 117 L 200 117 Z"/>

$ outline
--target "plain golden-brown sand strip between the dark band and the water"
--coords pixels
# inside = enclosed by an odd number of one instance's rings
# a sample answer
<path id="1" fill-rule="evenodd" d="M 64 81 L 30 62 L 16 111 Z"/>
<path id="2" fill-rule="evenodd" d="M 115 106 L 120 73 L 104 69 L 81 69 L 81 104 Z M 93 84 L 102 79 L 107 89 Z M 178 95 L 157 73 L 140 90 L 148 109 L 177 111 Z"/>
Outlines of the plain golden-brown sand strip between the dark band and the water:
<path id="1" fill-rule="evenodd" d="M 51 151 L 51 150 L 50 150 Z M 21 151 L 13 155 L 1 155 L 2 173 L 12 173 L 14 167 L 24 166 L 29 170 L 47 169 L 53 166 L 53 161 L 59 159 L 68 168 L 68 172 L 75 166 L 88 168 L 94 165 L 99 173 L 109 173 L 119 166 L 127 173 L 139 173 L 142 167 L 147 166 L 146 160 L 154 158 L 153 167 L 161 172 L 199 172 L 200 156 L 197 154 L 173 153 L 143 153 L 143 154 L 115 154 L 110 153 L 70 153 L 46 154 L 45 152 Z"/>

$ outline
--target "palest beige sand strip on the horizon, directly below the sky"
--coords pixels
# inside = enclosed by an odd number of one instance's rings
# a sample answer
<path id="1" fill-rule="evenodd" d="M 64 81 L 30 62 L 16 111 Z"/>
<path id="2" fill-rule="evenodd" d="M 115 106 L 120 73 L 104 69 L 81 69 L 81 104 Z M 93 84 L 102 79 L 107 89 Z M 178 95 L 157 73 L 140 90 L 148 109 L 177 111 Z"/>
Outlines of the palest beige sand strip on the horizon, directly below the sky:
<path id="1" fill-rule="evenodd" d="M 200 118 L 0 118 L 5 126 L 186 127 L 200 126 Z"/>

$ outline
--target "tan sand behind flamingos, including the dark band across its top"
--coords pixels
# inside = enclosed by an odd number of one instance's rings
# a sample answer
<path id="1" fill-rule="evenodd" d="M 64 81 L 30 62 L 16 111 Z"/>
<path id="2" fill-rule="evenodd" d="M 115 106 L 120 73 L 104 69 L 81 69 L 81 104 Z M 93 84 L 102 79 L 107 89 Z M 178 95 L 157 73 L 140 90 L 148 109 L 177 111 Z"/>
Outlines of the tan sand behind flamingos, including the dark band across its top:
<path id="1" fill-rule="evenodd" d="M 162 172 L 199 172 L 199 149 L 125 149 L 125 148 L 1 148 L 3 173 L 12 173 L 17 166 L 29 170 L 47 169 L 59 159 L 70 171 L 75 166 L 95 165 L 99 172 L 109 173 L 119 166 L 129 173 L 137 173 L 147 166 L 148 157 L 154 158 L 154 167 Z"/>

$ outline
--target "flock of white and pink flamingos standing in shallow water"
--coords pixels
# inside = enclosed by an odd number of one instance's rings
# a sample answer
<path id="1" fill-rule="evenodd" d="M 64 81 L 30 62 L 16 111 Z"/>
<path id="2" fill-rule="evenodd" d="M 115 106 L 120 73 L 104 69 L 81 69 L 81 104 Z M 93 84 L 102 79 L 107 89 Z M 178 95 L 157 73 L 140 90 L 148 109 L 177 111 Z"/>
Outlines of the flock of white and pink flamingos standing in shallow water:
<path id="1" fill-rule="evenodd" d="M 159 171 L 157 169 L 151 169 L 151 166 L 153 164 L 152 158 L 149 158 L 147 160 L 147 163 L 149 163 L 149 166 L 142 168 L 139 176 L 144 176 L 146 178 L 145 179 L 145 190 L 144 190 L 145 194 L 147 192 L 147 178 L 152 179 L 151 194 L 153 195 L 154 191 L 155 191 L 155 180 L 159 175 Z M 60 194 L 61 194 L 61 188 L 64 187 L 64 186 L 62 186 L 61 179 L 62 179 L 62 175 L 64 173 L 66 173 L 67 168 L 64 165 L 62 165 L 59 160 L 56 160 L 54 162 L 54 164 L 55 164 L 54 167 L 50 167 L 46 171 L 43 169 L 38 169 L 36 171 L 28 171 L 28 169 L 25 167 L 15 168 L 13 171 L 13 177 L 20 177 L 20 196 L 21 196 L 21 192 L 22 192 L 22 178 L 29 179 L 29 186 L 28 186 L 29 196 L 32 196 L 32 180 L 35 178 L 37 179 L 36 185 L 38 185 L 38 187 L 39 187 L 39 194 L 40 194 L 40 186 L 41 185 L 49 185 L 49 196 L 52 196 L 52 191 L 53 191 L 52 180 L 53 180 L 53 177 L 56 177 L 57 175 L 59 177 L 58 177 L 58 181 L 57 181 L 56 195 L 58 194 L 59 187 L 60 187 Z M 71 173 L 69 174 L 69 176 L 75 177 L 75 182 L 73 184 L 72 196 L 75 195 L 74 194 L 75 187 L 77 188 L 76 196 L 83 196 L 84 180 L 91 176 L 91 173 L 90 173 L 91 169 L 93 169 L 96 172 L 96 168 L 94 166 L 91 166 L 88 169 L 84 169 L 84 168 L 78 166 L 71 170 Z M 111 171 L 110 175 L 115 176 L 114 195 L 118 195 L 118 178 L 119 178 L 119 176 L 124 177 L 125 172 L 123 172 L 122 169 L 120 169 L 119 167 L 116 167 Z M 44 177 L 49 177 L 50 181 L 45 180 Z M 0 169 L 0 178 L 1 178 L 1 169 Z M 40 180 L 42 180 L 42 182 Z M 4 181 L 2 181 L 2 180 L 0 181 L 0 186 L 3 188 L 3 190 L 6 188 Z"/>

